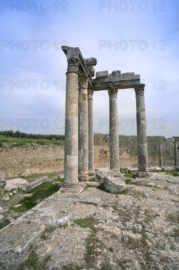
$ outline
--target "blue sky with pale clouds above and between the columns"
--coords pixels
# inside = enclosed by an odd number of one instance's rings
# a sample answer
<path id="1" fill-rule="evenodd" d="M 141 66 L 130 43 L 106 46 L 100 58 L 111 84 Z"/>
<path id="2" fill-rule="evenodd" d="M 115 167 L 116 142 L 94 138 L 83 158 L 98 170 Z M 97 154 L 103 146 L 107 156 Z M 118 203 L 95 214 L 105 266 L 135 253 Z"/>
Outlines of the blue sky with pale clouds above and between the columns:
<path id="1" fill-rule="evenodd" d="M 64 134 L 67 59 L 140 74 L 147 134 L 179 136 L 178 0 L 1 0 L 1 130 Z M 119 134 L 136 135 L 134 89 L 118 91 Z M 94 131 L 109 133 L 107 91 L 94 92 Z"/>

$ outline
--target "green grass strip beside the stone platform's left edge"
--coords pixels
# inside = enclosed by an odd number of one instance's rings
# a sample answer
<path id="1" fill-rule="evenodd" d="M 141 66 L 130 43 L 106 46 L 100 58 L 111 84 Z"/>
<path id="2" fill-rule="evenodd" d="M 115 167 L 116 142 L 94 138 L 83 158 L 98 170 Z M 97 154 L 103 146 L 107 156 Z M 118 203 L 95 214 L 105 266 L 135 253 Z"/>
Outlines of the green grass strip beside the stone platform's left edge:
<path id="1" fill-rule="evenodd" d="M 21 206 L 19 207 L 11 207 L 10 210 L 14 211 L 15 213 L 23 213 L 34 206 L 38 204 L 39 201 L 42 201 L 43 199 L 51 196 L 55 192 L 57 192 L 59 188 L 52 185 L 52 182 L 46 182 L 35 189 L 32 189 L 30 192 L 32 193 L 32 196 L 29 197 L 23 197 L 19 204 Z"/>

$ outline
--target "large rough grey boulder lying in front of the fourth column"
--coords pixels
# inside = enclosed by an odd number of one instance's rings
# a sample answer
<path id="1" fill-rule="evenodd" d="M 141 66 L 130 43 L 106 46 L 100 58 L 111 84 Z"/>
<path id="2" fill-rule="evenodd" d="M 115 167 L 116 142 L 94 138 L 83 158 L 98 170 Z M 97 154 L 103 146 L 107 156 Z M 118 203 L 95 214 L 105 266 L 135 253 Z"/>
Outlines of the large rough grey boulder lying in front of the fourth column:
<path id="1" fill-rule="evenodd" d="M 104 187 L 110 193 L 121 193 L 126 189 L 126 184 L 114 177 L 107 177 L 104 181 Z"/>

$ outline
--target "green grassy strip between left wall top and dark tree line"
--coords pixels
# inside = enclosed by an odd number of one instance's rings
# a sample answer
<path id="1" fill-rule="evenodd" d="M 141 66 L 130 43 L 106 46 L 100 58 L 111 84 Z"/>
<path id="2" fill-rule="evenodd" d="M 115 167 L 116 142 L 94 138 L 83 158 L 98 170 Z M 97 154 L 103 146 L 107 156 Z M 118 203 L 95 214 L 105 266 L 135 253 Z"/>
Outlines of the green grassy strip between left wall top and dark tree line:
<path id="1" fill-rule="evenodd" d="M 29 139 L 29 138 L 15 138 L 15 137 L 0 137 L 0 147 L 2 147 L 2 143 L 7 142 L 10 144 L 11 147 L 18 147 L 22 145 L 26 145 L 27 143 L 36 143 L 39 145 L 61 145 L 64 146 L 65 142 L 63 140 L 55 140 L 55 141 L 49 141 L 49 140 L 42 140 L 42 139 Z"/>

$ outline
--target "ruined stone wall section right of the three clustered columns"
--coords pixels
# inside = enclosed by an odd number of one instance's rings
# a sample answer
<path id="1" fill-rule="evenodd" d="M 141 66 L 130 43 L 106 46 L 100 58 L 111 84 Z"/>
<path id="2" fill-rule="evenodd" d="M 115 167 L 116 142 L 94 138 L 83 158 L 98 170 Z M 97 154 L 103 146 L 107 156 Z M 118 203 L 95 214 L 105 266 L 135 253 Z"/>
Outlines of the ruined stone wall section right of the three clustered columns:
<path id="1" fill-rule="evenodd" d="M 163 165 L 174 166 L 174 139 L 164 136 L 147 136 L 149 166 L 159 165 L 159 143 L 163 148 Z M 116 146 L 117 147 L 117 146 Z M 119 135 L 120 166 L 137 167 L 137 136 Z M 110 165 L 109 134 L 94 134 L 94 166 Z"/>

